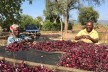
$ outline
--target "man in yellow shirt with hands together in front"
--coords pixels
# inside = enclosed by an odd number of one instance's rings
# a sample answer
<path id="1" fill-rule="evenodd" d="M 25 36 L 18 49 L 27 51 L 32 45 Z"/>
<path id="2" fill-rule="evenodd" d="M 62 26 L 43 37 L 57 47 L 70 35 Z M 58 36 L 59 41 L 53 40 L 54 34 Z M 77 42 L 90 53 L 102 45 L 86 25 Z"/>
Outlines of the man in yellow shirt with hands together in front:
<path id="1" fill-rule="evenodd" d="M 97 43 L 99 36 L 96 30 L 93 29 L 93 23 L 88 21 L 85 29 L 81 30 L 76 36 L 75 40 L 81 40 L 87 43 Z"/>

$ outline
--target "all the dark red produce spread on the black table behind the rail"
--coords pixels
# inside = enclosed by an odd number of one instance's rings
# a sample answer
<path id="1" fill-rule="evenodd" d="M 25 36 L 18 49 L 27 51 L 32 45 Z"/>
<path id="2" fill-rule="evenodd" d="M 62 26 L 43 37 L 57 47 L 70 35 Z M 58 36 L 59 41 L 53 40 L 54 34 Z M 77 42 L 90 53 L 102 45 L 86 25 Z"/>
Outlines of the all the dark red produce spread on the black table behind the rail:
<path id="1" fill-rule="evenodd" d="M 15 45 L 15 46 L 14 46 Z M 7 46 L 9 51 L 25 50 L 20 44 Z M 108 72 L 108 46 L 84 42 L 48 41 L 29 45 L 29 49 L 66 52 L 57 65 L 96 72 Z"/>

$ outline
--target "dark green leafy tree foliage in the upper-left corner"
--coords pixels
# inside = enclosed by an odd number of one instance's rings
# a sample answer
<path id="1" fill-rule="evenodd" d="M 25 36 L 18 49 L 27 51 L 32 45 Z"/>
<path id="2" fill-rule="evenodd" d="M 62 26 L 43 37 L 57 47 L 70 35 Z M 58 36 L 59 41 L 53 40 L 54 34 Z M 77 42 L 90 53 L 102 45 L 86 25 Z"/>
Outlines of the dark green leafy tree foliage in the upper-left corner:
<path id="1" fill-rule="evenodd" d="M 18 23 L 20 18 L 21 4 L 24 0 L 0 0 L 0 16 L 2 27 L 7 24 Z"/>

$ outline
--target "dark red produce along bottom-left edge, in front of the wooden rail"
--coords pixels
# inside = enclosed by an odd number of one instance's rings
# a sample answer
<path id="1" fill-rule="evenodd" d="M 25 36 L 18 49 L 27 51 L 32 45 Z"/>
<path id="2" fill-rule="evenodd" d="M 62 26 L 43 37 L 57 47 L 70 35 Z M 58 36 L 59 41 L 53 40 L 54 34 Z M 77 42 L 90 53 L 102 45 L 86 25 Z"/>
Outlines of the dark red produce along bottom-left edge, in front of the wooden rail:
<path id="1" fill-rule="evenodd" d="M 9 64 L 4 60 L 0 61 L 0 72 L 55 72 L 44 66 L 31 67 L 26 65 L 23 61 L 20 64 Z"/>

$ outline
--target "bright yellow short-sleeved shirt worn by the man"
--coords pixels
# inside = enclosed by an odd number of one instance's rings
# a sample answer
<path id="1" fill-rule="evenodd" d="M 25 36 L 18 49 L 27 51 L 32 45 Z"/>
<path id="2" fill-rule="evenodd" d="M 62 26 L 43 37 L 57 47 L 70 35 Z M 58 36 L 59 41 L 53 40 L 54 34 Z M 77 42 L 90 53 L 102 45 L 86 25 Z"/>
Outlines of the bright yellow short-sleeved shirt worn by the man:
<path id="1" fill-rule="evenodd" d="M 90 33 L 86 31 L 86 29 L 81 30 L 76 36 L 82 36 L 82 35 L 89 35 L 93 39 L 99 39 L 99 35 L 96 30 L 92 30 Z M 81 41 L 87 42 L 87 43 L 93 43 L 89 39 L 81 39 Z"/>

